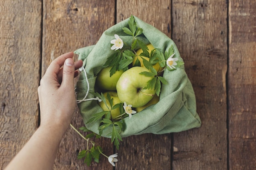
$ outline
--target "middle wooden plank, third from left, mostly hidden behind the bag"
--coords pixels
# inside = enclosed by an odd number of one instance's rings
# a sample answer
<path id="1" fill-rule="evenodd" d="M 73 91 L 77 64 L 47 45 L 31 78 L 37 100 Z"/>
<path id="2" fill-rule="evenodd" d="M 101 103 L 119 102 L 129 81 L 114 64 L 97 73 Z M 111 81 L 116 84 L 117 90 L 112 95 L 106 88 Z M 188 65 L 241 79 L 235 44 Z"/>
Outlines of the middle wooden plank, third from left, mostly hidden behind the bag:
<path id="1" fill-rule="evenodd" d="M 117 22 L 130 15 L 171 37 L 171 1 L 117 0 Z M 117 170 L 171 169 L 171 134 L 144 134 L 124 138 L 117 151 Z"/>

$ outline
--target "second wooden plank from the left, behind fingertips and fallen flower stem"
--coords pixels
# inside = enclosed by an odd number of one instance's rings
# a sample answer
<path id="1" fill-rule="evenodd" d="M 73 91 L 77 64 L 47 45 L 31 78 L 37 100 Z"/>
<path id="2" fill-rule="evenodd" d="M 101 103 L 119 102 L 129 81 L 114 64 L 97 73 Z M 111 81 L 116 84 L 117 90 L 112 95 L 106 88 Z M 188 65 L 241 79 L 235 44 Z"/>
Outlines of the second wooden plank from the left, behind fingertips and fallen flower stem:
<path id="1" fill-rule="evenodd" d="M 115 0 L 45 0 L 43 4 L 43 68 L 63 53 L 95 44 L 103 31 L 115 23 Z M 72 120 L 74 127 L 84 126 L 78 112 Z M 106 155 L 113 154 L 109 139 L 96 141 Z M 110 169 L 108 160 L 101 157 L 99 164 L 88 168 L 83 160 L 77 159 L 79 150 L 85 149 L 86 142 L 69 129 L 59 148 L 54 169 Z"/>

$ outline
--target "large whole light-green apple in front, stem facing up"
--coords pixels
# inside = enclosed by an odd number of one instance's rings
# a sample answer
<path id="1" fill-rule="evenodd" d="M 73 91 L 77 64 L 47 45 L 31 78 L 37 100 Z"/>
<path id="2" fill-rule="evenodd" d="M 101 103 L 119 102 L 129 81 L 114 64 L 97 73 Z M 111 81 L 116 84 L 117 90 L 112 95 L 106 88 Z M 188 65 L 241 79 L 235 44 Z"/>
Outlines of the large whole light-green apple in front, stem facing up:
<path id="1" fill-rule="evenodd" d="M 135 66 L 125 71 L 117 82 L 117 94 L 124 103 L 131 104 L 132 107 L 141 107 L 147 104 L 155 95 L 153 89 L 143 89 L 147 82 L 153 77 L 146 77 L 139 73 L 148 71 L 144 67 Z"/>

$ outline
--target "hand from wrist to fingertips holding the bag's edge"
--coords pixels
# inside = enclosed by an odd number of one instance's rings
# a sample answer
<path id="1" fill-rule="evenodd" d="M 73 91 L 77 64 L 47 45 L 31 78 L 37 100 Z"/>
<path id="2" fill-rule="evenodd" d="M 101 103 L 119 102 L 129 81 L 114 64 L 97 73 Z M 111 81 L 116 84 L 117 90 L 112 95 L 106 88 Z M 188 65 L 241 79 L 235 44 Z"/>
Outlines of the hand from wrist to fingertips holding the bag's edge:
<path id="1" fill-rule="evenodd" d="M 77 69 L 83 65 L 81 60 L 74 62 L 72 57 L 73 53 L 70 52 L 52 61 L 38 87 L 40 126 L 60 128 L 63 133 L 74 115 L 74 77 L 78 75 Z"/>

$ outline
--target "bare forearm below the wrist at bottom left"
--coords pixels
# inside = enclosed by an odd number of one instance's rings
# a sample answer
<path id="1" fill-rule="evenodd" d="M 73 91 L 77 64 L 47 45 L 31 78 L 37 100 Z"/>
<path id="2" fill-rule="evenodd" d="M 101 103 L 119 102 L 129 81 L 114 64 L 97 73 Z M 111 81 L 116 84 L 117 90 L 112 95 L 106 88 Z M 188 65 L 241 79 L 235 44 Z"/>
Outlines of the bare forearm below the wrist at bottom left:
<path id="1" fill-rule="evenodd" d="M 56 152 L 65 132 L 57 128 L 58 126 L 39 127 L 5 170 L 52 170 Z"/>

